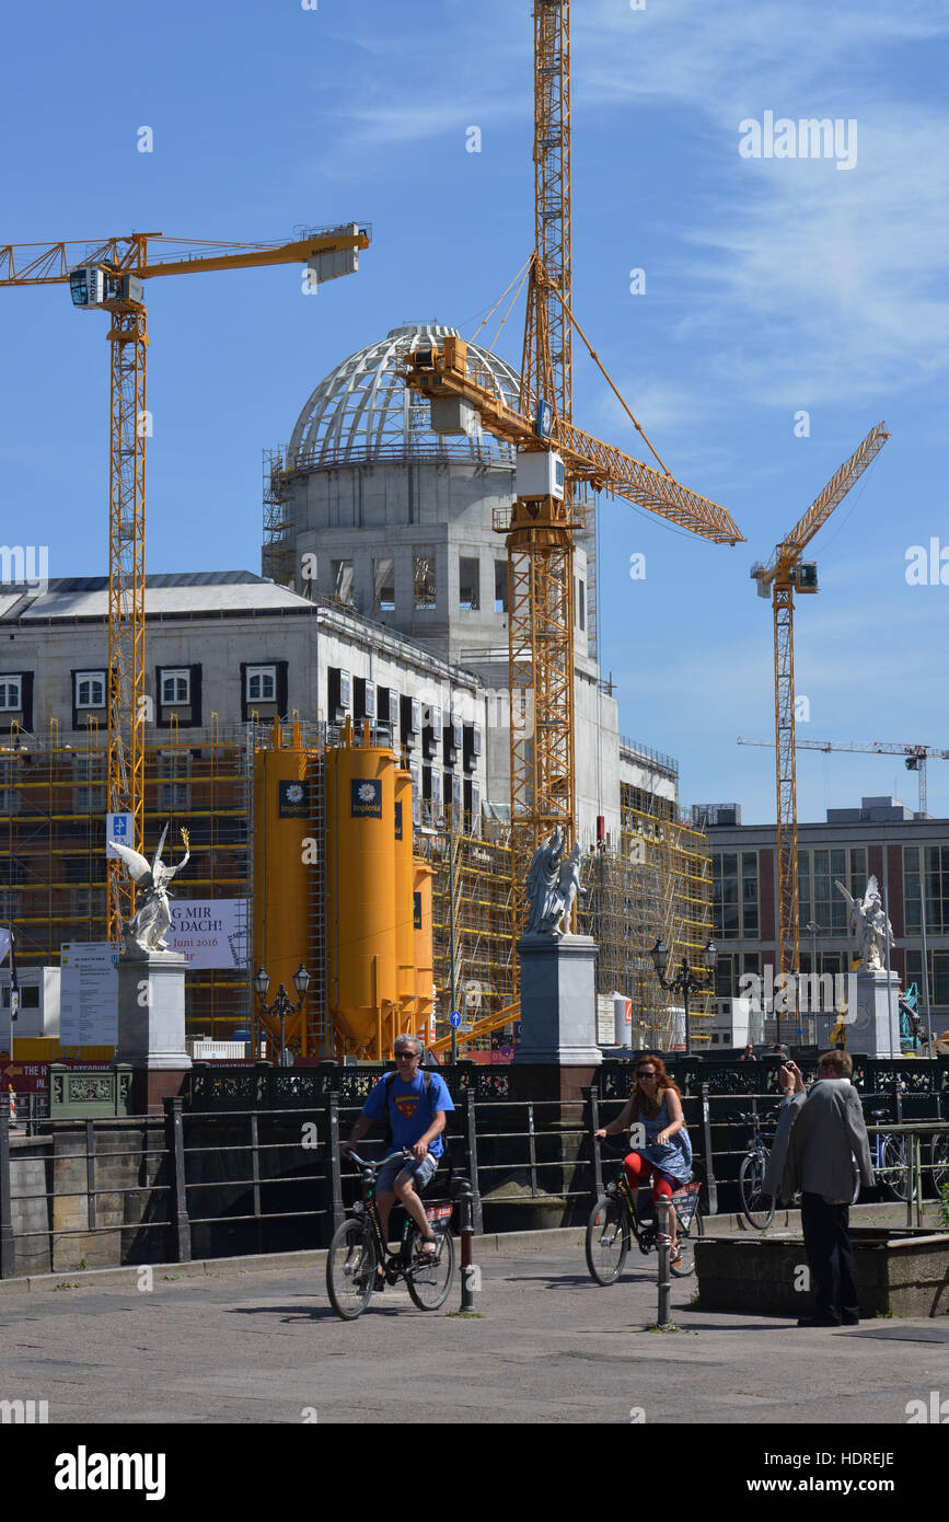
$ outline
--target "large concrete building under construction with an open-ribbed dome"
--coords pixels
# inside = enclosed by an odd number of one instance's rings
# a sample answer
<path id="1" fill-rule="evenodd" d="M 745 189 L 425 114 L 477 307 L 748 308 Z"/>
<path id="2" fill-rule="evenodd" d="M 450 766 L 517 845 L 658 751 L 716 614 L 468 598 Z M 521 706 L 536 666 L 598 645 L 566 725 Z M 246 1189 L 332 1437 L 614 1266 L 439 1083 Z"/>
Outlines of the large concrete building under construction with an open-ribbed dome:
<path id="1" fill-rule="evenodd" d="M 435 1032 L 453 1005 L 474 1024 L 514 994 L 522 886 L 509 851 L 508 566 L 494 533 L 496 510 L 513 498 L 514 452 L 478 431 L 433 432 L 400 373 L 417 342 L 450 332 L 394 329 L 316 387 L 290 446 L 268 455 L 269 575 L 146 578 L 144 851 L 166 823 L 172 851 L 187 829 L 178 898 L 228 903 L 234 916 L 233 963 L 187 974 L 190 1035 L 266 1033 L 272 1046 L 277 1027 L 259 1018 L 252 976 L 263 962 L 272 1000 L 281 982 L 292 992 L 287 979 L 304 962 L 312 985 L 287 1044 L 301 1055 L 339 1046 L 319 779 L 347 721 L 356 737 L 368 726 L 371 744 L 411 779 L 414 852 L 432 874 Z M 479 362 L 513 397 L 514 371 L 487 352 Z M 680 817 L 675 763 L 619 737 L 582 546 L 573 574 L 579 928 L 599 944 L 598 991 L 631 998 L 637 1033 L 669 1044 L 674 1011 L 648 953 L 657 936 L 675 956 L 707 939 L 704 840 Z M 55 968 L 64 945 L 106 935 L 106 615 L 105 577 L 0 589 L 11 636 L 0 671 L 0 922 L 17 928 L 24 988 L 30 966 Z M 271 829 L 290 816 L 254 802 L 262 753 L 294 749 L 306 759 L 286 764 L 303 772 L 281 781 L 306 784 L 315 810 L 301 820 L 315 842 L 303 875 Z M 281 796 L 287 805 L 286 787 Z M 281 916 L 295 928 L 277 948 Z M 421 1018 L 426 1000 L 406 986 L 388 1008 L 411 998 Z"/>

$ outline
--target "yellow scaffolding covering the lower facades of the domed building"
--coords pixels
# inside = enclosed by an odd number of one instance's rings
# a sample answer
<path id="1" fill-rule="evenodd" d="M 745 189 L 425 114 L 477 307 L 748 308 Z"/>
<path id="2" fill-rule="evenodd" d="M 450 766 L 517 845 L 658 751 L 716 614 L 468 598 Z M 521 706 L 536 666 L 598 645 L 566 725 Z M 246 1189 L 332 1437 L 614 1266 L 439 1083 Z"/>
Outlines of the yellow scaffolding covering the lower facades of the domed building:
<path id="1" fill-rule="evenodd" d="M 254 718 L 254 715 L 252 715 Z M 179 893 L 187 898 L 237 900 L 245 906 L 243 930 L 231 947 L 233 968 L 187 973 L 187 1032 L 208 1040 L 249 1040 L 259 1050 L 262 1023 L 256 1009 L 251 963 L 251 901 L 254 893 L 254 755 L 274 744 L 309 752 L 307 834 L 319 842 L 307 895 L 306 947 L 310 973 L 304 1006 L 307 1050 L 328 1049 L 325 983 L 325 807 L 327 747 L 339 741 L 324 723 L 300 715 L 234 726 L 227 734 L 217 715 L 201 737 L 182 738 L 176 720 L 144 747 L 146 843 L 157 843 L 166 822 L 169 840 L 184 826 L 192 860 Z M 93 721 L 82 738 L 64 744 L 55 723 L 46 735 L 14 724 L 0 747 L 0 924 L 17 927 L 21 965 L 58 966 L 65 942 L 103 941 L 105 901 L 105 735 Z M 509 825 L 444 811 L 414 801 L 415 855 L 433 869 L 435 1036 L 450 1032 L 452 988 L 464 1024 L 505 1009 L 514 998 L 511 935 L 519 884 L 511 872 Z M 586 895 L 578 930 L 599 947 L 596 988 L 633 1000 L 634 1024 L 643 1043 L 671 1046 L 675 1014 L 652 970 L 649 948 L 663 938 L 677 963 L 700 953 L 712 935 L 712 871 L 701 829 L 669 799 L 622 785 L 620 837 L 584 857 Z M 453 904 L 452 904 L 453 898 Z M 453 930 L 452 930 L 453 924 Z M 452 936 L 455 977 L 452 980 Z M 697 1017 L 694 1040 L 713 1012 L 712 994 L 690 1001 Z M 272 1032 L 269 1032 L 272 1035 Z M 496 1033 L 496 1041 L 503 1035 Z M 476 1047 L 488 1047 L 488 1036 Z"/>

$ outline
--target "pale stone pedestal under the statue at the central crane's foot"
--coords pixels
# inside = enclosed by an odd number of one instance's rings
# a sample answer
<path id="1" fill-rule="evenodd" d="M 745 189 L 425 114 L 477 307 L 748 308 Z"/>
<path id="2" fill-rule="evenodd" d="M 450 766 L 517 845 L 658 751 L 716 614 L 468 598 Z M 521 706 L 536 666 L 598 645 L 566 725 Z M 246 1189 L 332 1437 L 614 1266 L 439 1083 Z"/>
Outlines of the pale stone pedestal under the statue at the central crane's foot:
<path id="1" fill-rule="evenodd" d="M 520 1041 L 514 1062 L 599 1067 L 593 938 L 528 935 L 517 942 L 517 954 Z"/>

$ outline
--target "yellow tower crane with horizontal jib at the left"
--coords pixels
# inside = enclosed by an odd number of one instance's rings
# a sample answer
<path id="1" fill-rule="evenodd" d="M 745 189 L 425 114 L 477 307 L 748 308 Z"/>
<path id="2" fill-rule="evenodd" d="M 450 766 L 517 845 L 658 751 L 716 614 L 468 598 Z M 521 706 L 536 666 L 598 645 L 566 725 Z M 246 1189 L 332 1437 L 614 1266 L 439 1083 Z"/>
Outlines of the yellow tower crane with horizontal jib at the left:
<path id="1" fill-rule="evenodd" d="M 88 244 L 0 247 L 0 286 L 68 285 L 73 306 L 106 312 L 111 344 L 108 811 L 131 816 L 129 845 L 143 849 L 144 811 L 144 440 L 146 306 L 143 282 L 214 269 L 307 265 L 310 285 L 357 269 L 370 233 L 356 222 L 307 228 L 290 244 L 192 244 L 132 233 Z M 117 941 L 135 909 L 135 886 L 110 861 L 106 936 Z"/>

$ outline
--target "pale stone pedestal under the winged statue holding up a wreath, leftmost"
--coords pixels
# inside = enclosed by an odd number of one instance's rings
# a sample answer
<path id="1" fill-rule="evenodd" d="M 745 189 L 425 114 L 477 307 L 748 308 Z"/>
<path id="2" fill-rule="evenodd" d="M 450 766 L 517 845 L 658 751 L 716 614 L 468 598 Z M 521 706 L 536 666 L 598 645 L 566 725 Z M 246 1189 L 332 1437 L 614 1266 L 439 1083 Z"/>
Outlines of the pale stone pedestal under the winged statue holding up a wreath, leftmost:
<path id="1" fill-rule="evenodd" d="M 184 1046 L 186 968 L 178 951 L 119 957 L 116 1061 L 132 1068 L 132 1114 L 161 1114 L 163 1099 L 181 1093 L 192 1065 Z"/>

